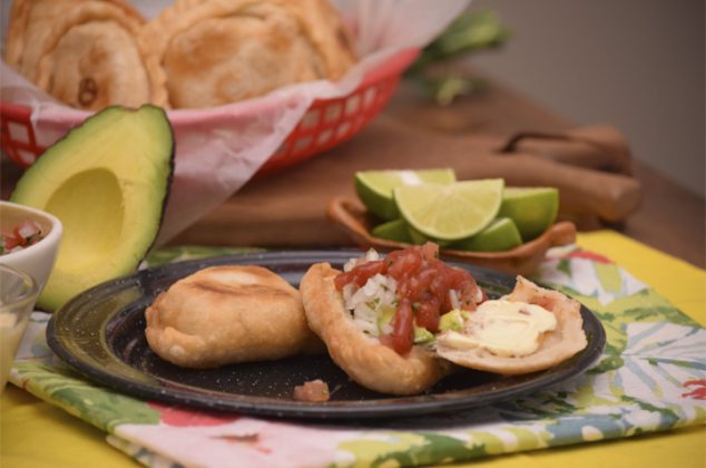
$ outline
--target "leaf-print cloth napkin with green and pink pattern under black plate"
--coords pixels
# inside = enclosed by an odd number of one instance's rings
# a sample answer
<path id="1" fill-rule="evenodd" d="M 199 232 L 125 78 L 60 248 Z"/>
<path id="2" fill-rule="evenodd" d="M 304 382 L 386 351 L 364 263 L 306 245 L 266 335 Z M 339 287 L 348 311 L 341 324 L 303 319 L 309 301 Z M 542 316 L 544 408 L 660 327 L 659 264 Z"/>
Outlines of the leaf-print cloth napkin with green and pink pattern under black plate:
<path id="1" fill-rule="evenodd" d="M 237 252 L 173 248 L 146 266 Z M 706 422 L 706 330 L 615 263 L 576 247 L 551 251 L 532 280 L 591 309 L 606 329 L 605 352 L 553 388 L 467 411 L 332 426 L 140 401 L 56 358 L 42 313 L 32 316 L 10 381 L 105 430 L 148 466 L 419 466 Z"/>

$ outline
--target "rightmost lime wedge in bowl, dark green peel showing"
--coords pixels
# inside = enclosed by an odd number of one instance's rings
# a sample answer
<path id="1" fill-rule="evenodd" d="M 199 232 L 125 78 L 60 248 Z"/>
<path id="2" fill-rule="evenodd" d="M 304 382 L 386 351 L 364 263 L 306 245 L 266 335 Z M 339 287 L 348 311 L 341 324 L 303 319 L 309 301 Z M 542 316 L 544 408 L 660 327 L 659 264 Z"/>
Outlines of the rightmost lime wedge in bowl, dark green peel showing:
<path id="1" fill-rule="evenodd" d="M 551 226 L 559 212 L 555 187 L 508 187 L 502 193 L 498 216 L 514 221 L 522 241 L 531 241 Z"/>

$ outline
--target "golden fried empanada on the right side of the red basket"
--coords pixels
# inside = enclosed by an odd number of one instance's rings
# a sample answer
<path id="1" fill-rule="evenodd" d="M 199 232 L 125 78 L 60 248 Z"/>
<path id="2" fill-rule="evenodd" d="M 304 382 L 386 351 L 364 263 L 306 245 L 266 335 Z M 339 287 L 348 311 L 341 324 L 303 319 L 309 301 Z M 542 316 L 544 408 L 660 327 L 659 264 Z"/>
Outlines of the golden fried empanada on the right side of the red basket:
<path id="1" fill-rule="evenodd" d="M 150 21 L 151 68 L 174 108 L 220 106 L 282 86 L 339 79 L 355 62 L 329 0 L 183 0 Z"/>

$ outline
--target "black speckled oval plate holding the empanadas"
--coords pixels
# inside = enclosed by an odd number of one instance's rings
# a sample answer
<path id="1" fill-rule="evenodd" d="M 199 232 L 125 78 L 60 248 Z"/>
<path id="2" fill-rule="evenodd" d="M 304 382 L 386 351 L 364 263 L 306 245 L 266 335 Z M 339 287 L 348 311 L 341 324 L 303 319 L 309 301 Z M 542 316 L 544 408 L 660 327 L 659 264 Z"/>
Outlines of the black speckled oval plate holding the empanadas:
<path id="1" fill-rule="evenodd" d="M 465 370 L 443 379 L 428 392 L 391 397 L 349 380 L 327 355 L 293 357 L 212 370 L 178 368 L 157 357 L 145 340 L 144 310 L 160 291 L 196 270 L 222 264 L 256 264 L 298 285 L 311 264 L 341 265 L 360 251 L 282 251 L 174 263 L 98 285 L 57 312 L 47 329 L 51 349 L 88 378 L 144 399 L 288 418 L 389 418 L 459 410 L 546 389 L 577 376 L 601 354 L 605 331 L 581 309 L 588 347 L 543 372 L 500 377 Z M 489 270 L 468 269 L 491 296 L 509 292 L 514 279 Z M 332 391 L 325 403 L 292 399 L 295 386 L 323 379 Z"/>

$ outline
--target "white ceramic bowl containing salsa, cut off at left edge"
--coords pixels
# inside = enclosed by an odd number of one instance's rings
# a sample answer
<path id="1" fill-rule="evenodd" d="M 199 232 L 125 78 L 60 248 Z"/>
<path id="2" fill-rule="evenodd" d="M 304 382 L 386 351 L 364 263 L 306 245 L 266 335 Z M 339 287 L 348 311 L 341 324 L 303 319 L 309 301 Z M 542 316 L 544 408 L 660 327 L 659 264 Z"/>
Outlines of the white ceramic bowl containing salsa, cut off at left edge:
<path id="1" fill-rule="evenodd" d="M 63 226 L 59 218 L 49 213 L 17 203 L 0 201 L 0 228 L 3 232 L 11 231 L 27 220 L 39 223 L 43 237 L 38 243 L 21 251 L 0 255 L 0 264 L 9 265 L 29 274 L 35 279 L 41 292 L 57 259 Z"/>

